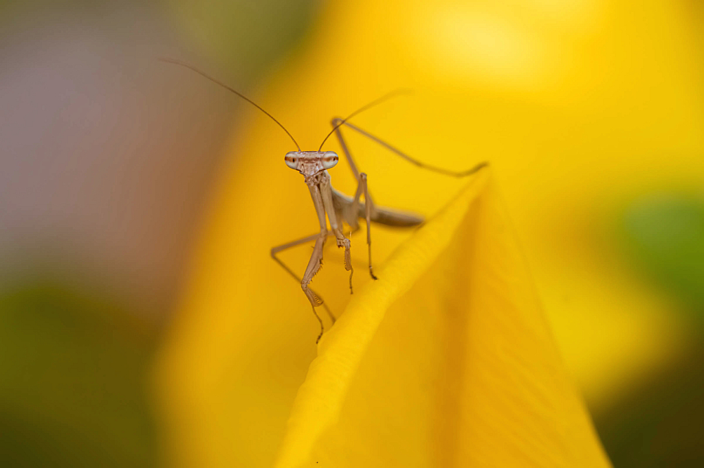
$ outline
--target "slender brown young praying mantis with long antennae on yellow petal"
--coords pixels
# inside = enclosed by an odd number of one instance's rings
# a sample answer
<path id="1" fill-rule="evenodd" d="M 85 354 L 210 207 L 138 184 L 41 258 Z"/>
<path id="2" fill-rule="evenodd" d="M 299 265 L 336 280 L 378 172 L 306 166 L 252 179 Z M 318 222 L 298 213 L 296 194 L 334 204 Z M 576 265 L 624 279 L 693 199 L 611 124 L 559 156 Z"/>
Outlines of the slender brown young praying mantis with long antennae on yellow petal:
<path id="1" fill-rule="evenodd" d="M 320 334 L 318 334 L 318 339 L 315 340 L 316 343 L 320 341 L 320 337 L 322 337 L 322 333 L 324 332 L 325 327 L 323 326 L 322 320 L 320 319 L 320 316 L 318 316 L 318 312 L 315 310 L 315 308 L 318 306 L 323 306 L 325 308 L 325 311 L 327 311 L 327 314 L 331 318 L 332 322 L 334 323 L 335 321 L 332 312 L 327 307 L 327 304 L 325 304 L 325 301 L 322 300 L 320 294 L 313 291 L 313 289 L 310 287 L 310 282 L 313 280 L 315 274 L 320 271 L 320 267 L 322 266 L 323 247 L 325 246 L 325 241 L 327 240 L 327 238 L 334 236 L 335 242 L 337 243 L 337 247 L 344 248 L 344 267 L 346 271 L 350 272 L 349 288 L 351 293 L 352 275 L 354 273 L 354 270 L 352 268 L 352 258 L 350 251 L 351 242 L 344 235 L 344 232 L 342 230 L 343 223 L 346 223 L 350 227 L 351 231 L 354 232 L 360 228 L 359 219 L 361 218 L 365 220 L 367 228 L 367 256 L 369 259 L 369 274 L 371 275 L 372 279 L 377 280 L 378 278 L 375 276 L 374 270 L 372 268 L 371 223 L 380 223 L 386 226 L 410 227 L 418 226 L 424 221 L 423 217 L 418 214 L 400 212 L 398 210 L 389 209 L 385 207 L 378 207 L 373 202 L 372 197 L 369 193 L 369 188 L 367 186 L 367 174 L 358 171 L 357 165 L 355 164 L 351 152 L 348 149 L 348 145 L 344 137 L 342 136 L 341 127 L 346 126 L 349 129 L 356 131 L 358 134 L 361 134 L 362 136 L 369 138 L 371 141 L 382 145 L 382 147 L 393 152 L 404 160 L 415 164 L 417 167 L 421 167 L 422 169 L 427 169 L 429 171 L 434 171 L 439 174 L 444 174 L 446 176 L 470 176 L 475 172 L 479 171 L 479 169 L 482 169 L 483 167 L 486 167 L 488 165 L 487 162 L 480 162 L 479 164 L 475 165 L 471 169 L 467 169 L 466 171 L 450 171 L 448 169 L 442 169 L 441 167 L 435 167 L 430 164 L 425 164 L 424 162 L 420 162 L 419 160 L 416 160 L 413 157 L 406 155 L 406 153 L 401 152 L 401 150 L 398 150 L 392 145 L 389 145 L 389 143 L 382 141 L 381 138 L 377 138 L 377 136 L 374 136 L 369 132 L 360 129 L 358 126 L 348 122 L 349 119 L 358 115 L 360 112 L 372 108 L 373 106 L 378 105 L 384 102 L 385 100 L 402 93 L 403 91 L 394 91 L 392 93 L 386 94 L 386 96 L 382 96 L 382 98 L 372 101 L 371 103 L 363 106 L 362 108 L 359 108 L 355 112 L 352 112 L 344 119 L 334 117 L 331 121 L 332 130 L 329 131 L 327 136 L 325 136 L 325 139 L 323 139 L 322 143 L 320 143 L 320 147 L 318 148 L 318 150 L 303 151 L 301 150 L 301 147 L 298 145 L 298 143 L 296 143 L 295 138 L 286 129 L 286 127 L 284 127 L 277 119 L 270 115 L 269 112 L 265 111 L 263 108 L 260 108 L 259 105 L 254 103 L 252 100 L 250 100 L 243 94 L 239 93 L 238 91 L 235 91 L 230 86 L 227 86 L 226 84 L 218 81 L 217 79 L 210 77 L 208 74 L 201 72 L 201 70 L 198 70 L 196 67 L 193 67 L 187 63 L 180 62 L 179 60 L 172 60 L 169 58 L 162 58 L 160 60 L 162 60 L 163 62 L 174 63 L 175 65 L 181 65 L 182 67 L 187 67 L 193 70 L 194 72 L 201 74 L 203 77 L 206 77 L 210 81 L 215 82 L 215 84 L 224 87 L 228 91 L 232 91 L 232 93 L 246 100 L 251 105 L 264 112 L 274 122 L 276 122 L 276 124 L 278 124 L 286 132 L 289 138 L 291 138 L 291 141 L 294 142 L 294 145 L 296 145 L 296 148 L 298 150 L 287 152 L 287 154 L 284 156 L 284 162 L 286 162 L 286 165 L 288 167 L 298 171 L 300 174 L 303 175 L 303 180 L 306 183 L 306 186 L 308 186 L 308 190 L 310 191 L 310 197 L 313 199 L 315 213 L 318 215 L 320 231 L 318 233 L 308 235 L 305 238 L 293 240 L 291 242 L 287 242 L 286 244 L 273 247 L 271 249 L 271 256 L 272 259 L 274 259 L 280 266 L 282 266 L 282 268 L 284 268 L 285 271 L 287 271 L 287 273 L 289 273 L 289 275 L 294 277 L 296 281 L 301 282 L 301 289 L 303 290 L 303 293 L 306 294 L 308 301 L 310 301 L 310 306 L 312 306 L 313 308 L 313 314 L 315 314 L 315 318 L 317 318 L 318 322 L 320 322 Z M 328 173 L 328 169 L 332 169 L 332 167 L 337 164 L 339 156 L 334 151 L 323 151 L 322 146 L 325 145 L 325 142 L 332 134 L 335 134 L 337 136 L 342 151 L 344 152 L 345 159 L 347 160 L 349 167 L 357 181 L 357 190 L 354 197 L 349 197 L 348 195 L 344 195 L 344 193 L 335 190 L 332 187 L 332 184 L 330 183 L 330 175 Z M 362 195 L 364 195 L 364 201 L 361 200 Z M 327 221 L 325 219 L 326 215 Z M 327 222 L 329 222 L 329 229 L 327 228 Z M 315 240 L 315 245 L 313 246 L 313 254 L 310 255 L 310 260 L 308 261 L 308 266 L 306 266 L 305 273 L 303 273 L 303 277 L 299 278 L 298 275 L 296 275 L 296 273 L 291 270 L 291 268 L 289 268 L 286 264 L 284 264 L 283 261 L 281 261 L 281 259 L 279 259 L 277 254 L 279 252 L 282 252 L 283 250 L 289 249 L 291 247 L 296 247 L 297 245 L 301 245 L 306 242 L 311 242 L 313 240 Z"/>

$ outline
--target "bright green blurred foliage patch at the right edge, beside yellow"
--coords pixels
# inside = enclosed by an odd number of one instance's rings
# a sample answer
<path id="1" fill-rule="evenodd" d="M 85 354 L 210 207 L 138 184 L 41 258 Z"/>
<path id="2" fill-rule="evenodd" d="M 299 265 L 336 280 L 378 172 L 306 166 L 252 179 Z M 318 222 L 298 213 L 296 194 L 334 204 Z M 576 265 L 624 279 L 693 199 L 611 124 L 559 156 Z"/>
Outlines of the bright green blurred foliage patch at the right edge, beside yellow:
<path id="1" fill-rule="evenodd" d="M 648 197 L 631 204 L 623 227 L 636 266 L 704 318 L 704 200 Z"/>

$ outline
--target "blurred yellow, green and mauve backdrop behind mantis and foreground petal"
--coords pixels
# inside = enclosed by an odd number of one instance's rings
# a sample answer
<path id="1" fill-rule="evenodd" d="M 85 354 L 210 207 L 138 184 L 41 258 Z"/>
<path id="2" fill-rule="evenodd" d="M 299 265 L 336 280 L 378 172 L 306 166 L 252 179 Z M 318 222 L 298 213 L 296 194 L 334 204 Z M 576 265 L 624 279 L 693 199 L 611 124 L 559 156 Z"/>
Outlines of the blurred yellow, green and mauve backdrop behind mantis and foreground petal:
<path id="1" fill-rule="evenodd" d="M 315 356 L 317 323 L 268 249 L 315 232 L 315 214 L 283 164 L 294 149 L 285 134 L 236 96 L 156 62 L 171 56 L 245 92 L 303 149 L 317 149 L 331 117 L 413 89 L 354 122 L 432 164 L 491 162 L 615 466 L 701 464 L 700 2 L 0 8 L 6 460 L 273 460 L 256 444 L 271 431 L 275 446 L 284 428 L 233 409 L 230 392 L 264 391 L 285 413 L 291 382 L 305 377 L 298 363 Z M 430 215 L 461 186 L 351 142 L 385 206 Z M 340 166 L 334 185 L 353 193 Z M 378 231 L 382 263 L 407 234 Z M 303 268 L 308 254 L 285 259 Z M 342 311 L 348 297 L 332 292 L 344 272 L 329 255 L 316 287 Z M 244 261 L 256 265 L 251 278 L 233 275 Z M 271 368 L 253 370 L 260 362 Z"/>

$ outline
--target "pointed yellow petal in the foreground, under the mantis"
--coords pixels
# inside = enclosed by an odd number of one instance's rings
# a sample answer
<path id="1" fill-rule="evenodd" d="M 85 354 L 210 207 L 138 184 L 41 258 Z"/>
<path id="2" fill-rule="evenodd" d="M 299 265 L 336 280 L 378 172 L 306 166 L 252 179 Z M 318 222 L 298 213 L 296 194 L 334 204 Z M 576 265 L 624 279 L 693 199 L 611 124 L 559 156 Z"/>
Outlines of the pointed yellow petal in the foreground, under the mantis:
<path id="1" fill-rule="evenodd" d="M 276 467 L 608 466 L 487 172 L 322 339 Z"/>

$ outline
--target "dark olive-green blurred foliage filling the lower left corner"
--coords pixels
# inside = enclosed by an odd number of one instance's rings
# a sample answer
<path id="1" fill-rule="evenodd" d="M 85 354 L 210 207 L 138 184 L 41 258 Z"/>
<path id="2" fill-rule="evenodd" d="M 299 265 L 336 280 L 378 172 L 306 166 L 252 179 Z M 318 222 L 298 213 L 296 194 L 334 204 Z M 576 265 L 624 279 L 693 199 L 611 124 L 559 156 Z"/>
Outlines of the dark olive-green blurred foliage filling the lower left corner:
<path id="1" fill-rule="evenodd" d="M 156 462 L 153 333 L 51 282 L 0 295 L 0 466 Z"/>

